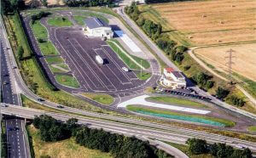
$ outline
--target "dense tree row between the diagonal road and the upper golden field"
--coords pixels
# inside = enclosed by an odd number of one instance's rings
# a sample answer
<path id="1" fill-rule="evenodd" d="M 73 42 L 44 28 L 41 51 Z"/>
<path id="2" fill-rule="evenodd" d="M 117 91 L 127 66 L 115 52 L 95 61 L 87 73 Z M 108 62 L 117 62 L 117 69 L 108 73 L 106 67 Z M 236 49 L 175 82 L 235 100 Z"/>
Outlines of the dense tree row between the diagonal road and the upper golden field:
<path id="1" fill-rule="evenodd" d="M 174 42 L 170 37 L 164 34 L 160 23 L 155 24 L 152 20 L 144 19 L 137 7 L 137 3 L 131 3 L 131 6 L 126 6 L 125 13 L 143 29 L 148 37 L 150 37 L 170 59 L 177 62 L 177 64 L 182 63 L 184 58 L 183 53 L 187 48 L 182 45 L 177 45 L 177 42 Z"/>

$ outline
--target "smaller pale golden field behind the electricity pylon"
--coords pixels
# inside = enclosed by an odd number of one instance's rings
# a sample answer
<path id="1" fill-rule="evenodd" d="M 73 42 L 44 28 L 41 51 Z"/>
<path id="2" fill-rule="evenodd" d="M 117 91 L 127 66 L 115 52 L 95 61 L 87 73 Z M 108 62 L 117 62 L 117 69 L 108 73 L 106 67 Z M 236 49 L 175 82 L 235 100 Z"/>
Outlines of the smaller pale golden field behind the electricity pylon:
<path id="1" fill-rule="evenodd" d="M 195 54 L 216 69 L 227 71 L 225 63 L 228 59 L 224 57 L 228 55 L 226 51 L 230 48 L 236 51 L 234 53 L 236 58 L 233 59 L 235 64 L 232 65 L 233 71 L 256 82 L 256 43 L 198 48 L 195 49 Z"/>

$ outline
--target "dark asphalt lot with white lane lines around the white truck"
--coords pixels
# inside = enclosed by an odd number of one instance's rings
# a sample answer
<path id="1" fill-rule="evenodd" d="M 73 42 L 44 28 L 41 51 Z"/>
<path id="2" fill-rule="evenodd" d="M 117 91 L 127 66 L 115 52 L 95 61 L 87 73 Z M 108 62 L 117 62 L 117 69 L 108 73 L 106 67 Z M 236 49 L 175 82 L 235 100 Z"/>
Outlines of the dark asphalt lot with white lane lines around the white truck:
<path id="1" fill-rule="evenodd" d="M 143 84 L 133 71 L 100 38 L 86 37 L 78 28 L 56 28 L 56 48 L 77 77 L 80 85 L 88 91 L 119 91 Z M 104 59 L 98 65 L 96 55 Z"/>

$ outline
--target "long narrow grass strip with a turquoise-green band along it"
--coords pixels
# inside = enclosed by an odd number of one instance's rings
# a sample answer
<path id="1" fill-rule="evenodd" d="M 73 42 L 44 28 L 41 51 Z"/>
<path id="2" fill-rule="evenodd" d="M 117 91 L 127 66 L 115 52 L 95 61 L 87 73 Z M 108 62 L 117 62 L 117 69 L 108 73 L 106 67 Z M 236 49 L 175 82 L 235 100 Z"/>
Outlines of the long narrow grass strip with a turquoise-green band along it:
<path id="1" fill-rule="evenodd" d="M 157 110 L 157 109 L 137 106 L 137 105 L 128 105 L 126 108 L 127 110 L 131 110 L 131 111 L 149 115 L 149 116 L 158 116 L 158 117 L 171 118 L 171 119 L 182 120 L 182 121 L 200 122 L 200 123 L 209 124 L 213 126 L 234 127 L 236 125 L 236 123 L 233 121 L 210 117 L 210 116 L 182 114 L 182 113 L 172 112 L 170 110 Z"/>

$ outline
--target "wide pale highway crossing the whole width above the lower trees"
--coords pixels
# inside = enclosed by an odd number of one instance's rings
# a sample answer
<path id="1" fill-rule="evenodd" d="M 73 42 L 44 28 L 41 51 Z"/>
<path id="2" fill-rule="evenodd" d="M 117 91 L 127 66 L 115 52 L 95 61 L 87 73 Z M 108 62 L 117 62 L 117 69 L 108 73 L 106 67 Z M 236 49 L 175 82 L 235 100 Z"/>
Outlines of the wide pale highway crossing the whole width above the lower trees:
<path id="1" fill-rule="evenodd" d="M 150 123 L 147 121 L 136 121 L 129 118 L 124 118 L 123 121 L 109 121 L 101 120 L 98 118 L 82 117 L 72 114 L 61 114 L 54 112 L 47 112 L 44 110 L 35 110 L 31 108 L 25 108 L 15 105 L 9 105 L 2 109 L 3 114 L 10 116 L 20 116 L 28 119 L 32 119 L 34 116 L 49 115 L 55 117 L 57 120 L 67 121 L 71 117 L 79 119 L 79 123 L 87 124 L 89 127 L 103 128 L 113 133 L 130 133 L 135 136 L 144 136 L 147 138 L 156 138 L 159 140 L 175 142 L 178 144 L 185 144 L 188 138 L 203 138 L 207 139 L 210 143 L 225 143 L 236 147 L 241 145 L 248 147 L 250 150 L 256 151 L 256 144 L 237 138 L 229 138 L 220 136 L 218 134 L 198 132 L 179 127 L 171 127 L 167 125 L 160 125 L 156 123 Z M 125 122 L 126 120 L 126 122 Z"/>

